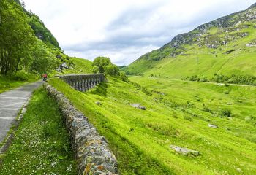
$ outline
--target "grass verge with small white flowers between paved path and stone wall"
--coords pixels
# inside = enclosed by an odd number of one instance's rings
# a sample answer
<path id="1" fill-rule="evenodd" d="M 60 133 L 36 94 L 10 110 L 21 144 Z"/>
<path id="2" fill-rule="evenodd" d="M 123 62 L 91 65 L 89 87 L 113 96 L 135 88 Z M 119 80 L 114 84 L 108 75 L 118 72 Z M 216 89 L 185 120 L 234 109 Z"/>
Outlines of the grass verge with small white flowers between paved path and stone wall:
<path id="1" fill-rule="evenodd" d="M 0 174 L 76 174 L 69 135 L 58 106 L 45 90 L 34 92 L 5 152 Z"/>

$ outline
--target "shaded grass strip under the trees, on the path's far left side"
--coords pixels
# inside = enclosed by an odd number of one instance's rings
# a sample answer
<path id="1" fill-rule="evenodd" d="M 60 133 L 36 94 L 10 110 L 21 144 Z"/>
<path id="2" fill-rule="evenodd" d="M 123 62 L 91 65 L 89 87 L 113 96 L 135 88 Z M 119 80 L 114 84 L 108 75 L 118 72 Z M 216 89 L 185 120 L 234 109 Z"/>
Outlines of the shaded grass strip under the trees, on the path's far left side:
<path id="1" fill-rule="evenodd" d="M 37 79 L 38 77 L 33 74 L 26 74 L 22 72 L 12 76 L 0 75 L 0 93 L 13 88 L 18 88 L 28 82 L 34 82 Z"/>

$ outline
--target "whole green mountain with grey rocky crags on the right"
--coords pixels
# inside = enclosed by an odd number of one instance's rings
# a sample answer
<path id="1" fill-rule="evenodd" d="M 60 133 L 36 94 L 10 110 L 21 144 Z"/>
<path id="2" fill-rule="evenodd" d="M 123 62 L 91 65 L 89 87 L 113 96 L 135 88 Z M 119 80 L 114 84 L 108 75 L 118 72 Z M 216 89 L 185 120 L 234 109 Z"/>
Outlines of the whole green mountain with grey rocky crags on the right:
<path id="1" fill-rule="evenodd" d="M 142 55 L 124 71 L 152 77 L 256 76 L 256 4 L 186 34 Z"/>

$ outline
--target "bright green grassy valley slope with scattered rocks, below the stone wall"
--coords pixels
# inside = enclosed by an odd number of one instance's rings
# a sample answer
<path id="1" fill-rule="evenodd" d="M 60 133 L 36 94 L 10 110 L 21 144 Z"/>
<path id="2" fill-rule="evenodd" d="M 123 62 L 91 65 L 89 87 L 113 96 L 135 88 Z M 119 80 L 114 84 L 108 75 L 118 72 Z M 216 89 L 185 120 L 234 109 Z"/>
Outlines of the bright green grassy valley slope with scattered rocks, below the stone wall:
<path id="1" fill-rule="evenodd" d="M 121 174 L 240 174 L 239 168 L 244 174 L 256 174 L 255 120 L 244 120 L 256 114 L 254 87 L 142 77 L 132 77 L 132 81 L 165 95 L 157 92 L 146 96 L 118 79 L 108 79 L 87 93 L 75 91 L 59 79 L 50 83 L 108 139 Z M 230 93 L 225 95 L 227 90 Z M 146 111 L 129 103 L 143 104 Z M 212 111 L 231 109 L 233 118 L 213 117 L 203 111 L 203 103 Z M 208 123 L 219 128 L 208 128 Z M 178 155 L 170 144 L 198 150 L 202 155 Z"/>

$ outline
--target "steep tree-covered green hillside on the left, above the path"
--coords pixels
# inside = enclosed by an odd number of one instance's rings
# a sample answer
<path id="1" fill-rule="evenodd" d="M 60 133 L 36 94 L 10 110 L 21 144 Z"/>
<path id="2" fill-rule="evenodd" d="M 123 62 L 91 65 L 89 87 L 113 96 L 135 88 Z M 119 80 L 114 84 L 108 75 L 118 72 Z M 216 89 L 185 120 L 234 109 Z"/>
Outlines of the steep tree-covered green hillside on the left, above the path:
<path id="1" fill-rule="evenodd" d="M 5 77 L 92 71 L 90 61 L 65 55 L 42 20 L 20 1 L 0 1 L 0 19 L 0 74 Z"/>

